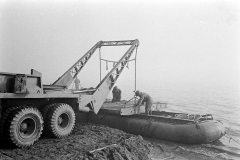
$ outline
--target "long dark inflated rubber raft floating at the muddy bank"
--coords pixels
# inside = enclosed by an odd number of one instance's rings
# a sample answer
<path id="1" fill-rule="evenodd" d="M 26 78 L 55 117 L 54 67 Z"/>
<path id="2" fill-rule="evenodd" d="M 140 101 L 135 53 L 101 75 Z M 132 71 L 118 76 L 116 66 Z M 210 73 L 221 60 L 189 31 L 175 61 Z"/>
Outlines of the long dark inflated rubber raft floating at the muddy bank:
<path id="1" fill-rule="evenodd" d="M 128 133 L 185 144 L 211 143 L 225 134 L 222 122 L 212 115 L 153 111 L 152 115 L 115 115 L 100 111 L 89 121 Z"/>

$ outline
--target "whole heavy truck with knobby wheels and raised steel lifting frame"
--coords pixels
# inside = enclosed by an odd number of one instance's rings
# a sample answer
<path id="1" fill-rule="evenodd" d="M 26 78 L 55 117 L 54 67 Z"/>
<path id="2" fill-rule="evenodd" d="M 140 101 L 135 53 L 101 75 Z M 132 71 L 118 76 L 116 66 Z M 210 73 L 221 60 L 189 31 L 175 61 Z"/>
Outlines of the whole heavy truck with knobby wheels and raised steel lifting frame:
<path id="1" fill-rule="evenodd" d="M 96 88 L 69 89 L 96 49 L 103 46 L 130 45 Z M 42 74 L 0 72 L 0 141 L 27 147 L 43 134 L 53 138 L 68 136 L 75 125 L 75 113 L 98 113 L 139 41 L 99 41 L 53 85 L 42 84 Z"/>

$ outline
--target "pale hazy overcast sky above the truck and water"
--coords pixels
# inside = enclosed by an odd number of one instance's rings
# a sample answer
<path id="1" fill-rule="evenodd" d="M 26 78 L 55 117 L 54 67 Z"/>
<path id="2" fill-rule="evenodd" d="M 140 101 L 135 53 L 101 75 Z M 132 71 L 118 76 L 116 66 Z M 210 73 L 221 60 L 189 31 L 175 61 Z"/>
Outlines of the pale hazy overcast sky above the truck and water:
<path id="1" fill-rule="evenodd" d="M 239 87 L 238 0 L 0 0 L 0 16 L 1 72 L 33 68 L 49 84 L 99 40 L 137 38 L 138 84 Z"/>

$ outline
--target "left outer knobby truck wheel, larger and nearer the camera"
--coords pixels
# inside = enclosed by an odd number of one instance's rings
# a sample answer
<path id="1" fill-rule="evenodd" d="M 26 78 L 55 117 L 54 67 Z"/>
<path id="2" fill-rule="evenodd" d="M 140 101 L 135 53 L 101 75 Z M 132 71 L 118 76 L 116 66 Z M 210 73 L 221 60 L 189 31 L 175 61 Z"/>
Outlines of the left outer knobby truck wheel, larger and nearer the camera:
<path id="1" fill-rule="evenodd" d="M 36 108 L 21 107 L 10 114 L 6 127 L 7 140 L 15 146 L 28 147 L 41 136 L 43 119 Z"/>

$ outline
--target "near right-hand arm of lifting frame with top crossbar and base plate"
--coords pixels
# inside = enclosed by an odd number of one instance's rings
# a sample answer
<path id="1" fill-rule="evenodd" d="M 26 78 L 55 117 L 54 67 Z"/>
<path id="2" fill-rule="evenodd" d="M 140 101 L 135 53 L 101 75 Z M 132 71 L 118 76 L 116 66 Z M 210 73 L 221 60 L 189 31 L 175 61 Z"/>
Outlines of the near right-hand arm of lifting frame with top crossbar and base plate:
<path id="1" fill-rule="evenodd" d="M 120 45 L 131 45 L 127 52 L 122 58 L 116 63 L 116 65 L 109 71 L 109 73 L 101 80 L 92 95 L 79 95 L 79 110 L 89 111 L 92 110 L 94 113 L 98 113 L 110 90 L 116 83 L 124 67 L 128 63 L 133 51 L 138 47 L 139 41 L 102 41 L 101 46 L 120 46 Z M 78 93 L 77 91 L 75 93 Z M 89 106 L 87 106 L 90 104 Z"/>

